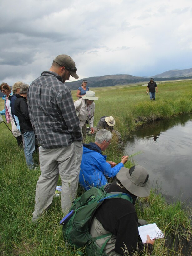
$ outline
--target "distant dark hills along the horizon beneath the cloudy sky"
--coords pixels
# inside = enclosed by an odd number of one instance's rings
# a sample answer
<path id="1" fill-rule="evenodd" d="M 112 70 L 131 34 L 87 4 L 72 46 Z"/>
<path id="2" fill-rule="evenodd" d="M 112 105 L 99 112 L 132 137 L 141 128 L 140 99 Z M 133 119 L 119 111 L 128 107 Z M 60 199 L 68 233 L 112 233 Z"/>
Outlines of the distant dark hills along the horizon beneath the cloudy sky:
<path id="1" fill-rule="evenodd" d="M 156 81 L 162 80 L 175 80 L 175 79 L 184 79 L 184 78 L 192 78 L 192 68 L 190 69 L 177 69 L 177 70 L 169 70 L 159 75 L 154 75 Z M 114 85 L 124 85 L 124 84 L 132 84 L 139 82 L 147 82 L 150 77 L 138 77 L 132 75 L 106 75 L 106 76 L 92 76 L 85 77 L 83 79 L 87 79 L 88 87 L 103 87 L 103 86 L 114 86 Z M 65 84 L 71 89 L 75 90 L 81 86 L 82 80 L 74 81 L 74 82 L 66 82 Z"/>

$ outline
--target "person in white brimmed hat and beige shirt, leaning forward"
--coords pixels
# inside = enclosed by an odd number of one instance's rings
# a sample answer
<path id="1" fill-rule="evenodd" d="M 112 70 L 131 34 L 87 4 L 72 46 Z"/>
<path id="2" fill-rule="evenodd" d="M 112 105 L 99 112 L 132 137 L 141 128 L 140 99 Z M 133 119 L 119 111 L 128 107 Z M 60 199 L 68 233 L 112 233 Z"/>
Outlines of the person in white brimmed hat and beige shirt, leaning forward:
<path id="1" fill-rule="evenodd" d="M 98 97 L 95 97 L 94 91 L 86 91 L 86 94 L 82 96 L 81 99 L 78 99 L 74 102 L 76 114 L 80 120 L 80 128 L 83 136 L 83 142 L 85 142 L 86 138 L 86 120 L 88 120 L 91 133 L 94 133 L 94 112 L 95 112 L 95 103 L 93 101 L 97 101 Z"/>

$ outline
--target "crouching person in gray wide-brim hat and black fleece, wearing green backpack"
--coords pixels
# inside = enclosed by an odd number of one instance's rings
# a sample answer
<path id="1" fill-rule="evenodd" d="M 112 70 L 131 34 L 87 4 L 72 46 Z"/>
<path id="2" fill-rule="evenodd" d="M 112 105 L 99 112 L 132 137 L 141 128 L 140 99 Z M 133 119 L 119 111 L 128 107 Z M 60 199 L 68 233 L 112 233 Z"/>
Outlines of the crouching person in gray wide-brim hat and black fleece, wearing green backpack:
<path id="1" fill-rule="evenodd" d="M 112 233 L 104 248 L 107 255 L 125 255 L 124 251 L 132 255 L 135 251 L 142 253 L 145 249 L 151 254 L 154 240 L 147 235 L 146 243 L 141 242 L 138 233 L 140 224 L 134 207 L 137 196 L 146 197 L 150 194 L 147 170 L 140 165 L 134 165 L 130 169 L 122 167 L 117 173 L 117 179 L 106 187 L 106 191 L 126 193 L 132 202 L 121 198 L 104 200 L 94 214 L 90 227 L 91 236 Z M 101 248 L 107 238 L 98 239 L 95 243 Z"/>

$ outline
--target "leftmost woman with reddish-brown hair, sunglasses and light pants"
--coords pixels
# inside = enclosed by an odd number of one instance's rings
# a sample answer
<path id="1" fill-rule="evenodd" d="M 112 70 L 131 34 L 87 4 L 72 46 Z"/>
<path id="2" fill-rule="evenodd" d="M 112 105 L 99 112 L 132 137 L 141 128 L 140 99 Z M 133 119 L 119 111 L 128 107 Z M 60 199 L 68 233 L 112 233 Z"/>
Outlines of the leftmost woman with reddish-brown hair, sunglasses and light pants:
<path id="1" fill-rule="evenodd" d="M 10 106 L 9 96 L 13 95 L 13 92 L 11 90 L 11 87 L 7 83 L 2 83 L 0 85 L 0 89 L 1 89 L 1 92 L 3 92 L 5 94 L 2 97 L 2 99 L 5 101 L 5 108 L 2 111 L 0 111 L 0 115 L 5 115 L 7 124 L 11 122 L 12 134 L 16 137 L 18 146 L 22 147 L 22 135 L 21 135 L 20 131 L 17 129 L 17 126 L 16 126 L 13 116 L 11 114 L 11 106 Z"/>

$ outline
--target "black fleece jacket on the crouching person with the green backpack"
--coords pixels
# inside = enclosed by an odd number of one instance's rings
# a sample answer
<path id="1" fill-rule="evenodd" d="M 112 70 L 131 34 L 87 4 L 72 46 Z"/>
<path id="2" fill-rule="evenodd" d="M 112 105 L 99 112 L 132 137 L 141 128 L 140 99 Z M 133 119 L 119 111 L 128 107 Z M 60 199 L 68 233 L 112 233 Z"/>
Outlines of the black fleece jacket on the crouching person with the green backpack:
<path id="1" fill-rule="evenodd" d="M 122 248 L 126 245 L 128 255 L 132 255 L 137 250 L 141 253 L 145 247 L 150 254 L 152 244 L 142 243 L 139 237 L 138 218 L 134 207 L 136 196 L 118 186 L 116 181 L 107 187 L 107 193 L 109 192 L 123 192 L 130 194 L 133 198 L 133 203 L 121 198 L 104 200 L 95 212 L 94 216 L 101 222 L 104 229 L 115 234 L 115 251 L 124 255 Z"/>

